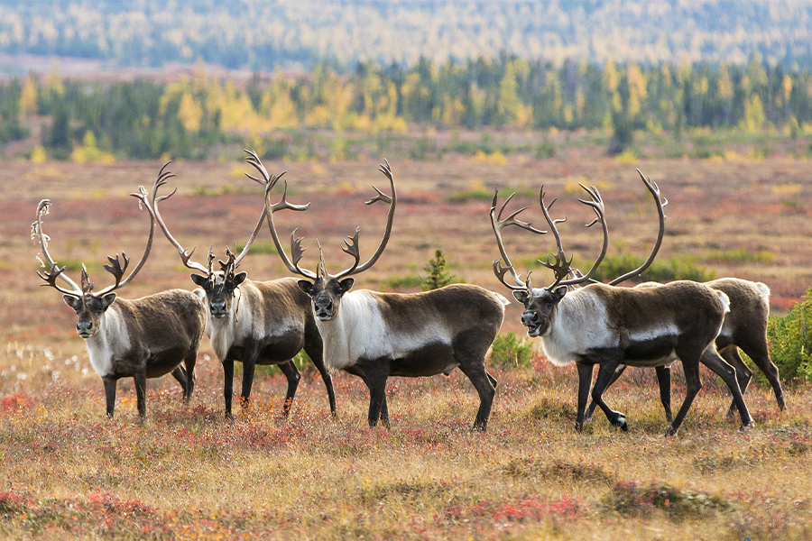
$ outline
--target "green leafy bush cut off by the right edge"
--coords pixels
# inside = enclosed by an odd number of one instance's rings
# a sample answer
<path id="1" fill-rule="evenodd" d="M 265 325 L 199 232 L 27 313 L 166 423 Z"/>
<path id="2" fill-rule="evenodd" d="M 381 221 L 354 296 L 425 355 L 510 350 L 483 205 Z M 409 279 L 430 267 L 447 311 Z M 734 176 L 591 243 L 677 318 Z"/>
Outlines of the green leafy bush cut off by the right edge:
<path id="1" fill-rule="evenodd" d="M 767 326 L 770 358 L 787 383 L 812 381 L 812 288 L 789 314 L 772 316 Z"/>

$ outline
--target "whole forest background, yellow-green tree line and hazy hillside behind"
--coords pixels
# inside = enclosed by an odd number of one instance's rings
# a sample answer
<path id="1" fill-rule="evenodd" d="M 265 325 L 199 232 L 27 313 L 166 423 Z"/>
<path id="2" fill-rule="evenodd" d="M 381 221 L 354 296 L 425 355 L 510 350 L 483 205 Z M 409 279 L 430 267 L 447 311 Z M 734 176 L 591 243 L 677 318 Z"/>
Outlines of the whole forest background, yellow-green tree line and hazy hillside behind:
<path id="1" fill-rule="evenodd" d="M 806 155 L 812 131 L 809 2 L 52 4 L 0 2 L 7 157 Z"/>

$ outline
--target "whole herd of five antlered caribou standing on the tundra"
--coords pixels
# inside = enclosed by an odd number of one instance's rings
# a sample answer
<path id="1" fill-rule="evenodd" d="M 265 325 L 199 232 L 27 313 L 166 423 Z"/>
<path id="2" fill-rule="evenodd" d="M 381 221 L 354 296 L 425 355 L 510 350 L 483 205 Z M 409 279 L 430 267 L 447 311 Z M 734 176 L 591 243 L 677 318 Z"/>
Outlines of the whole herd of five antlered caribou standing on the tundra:
<path id="1" fill-rule="evenodd" d="M 318 370 L 328 392 L 331 414 L 337 416 L 336 395 L 331 374 L 346 371 L 358 376 L 369 390 L 370 426 L 379 422 L 390 427 L 386 405 L 386 381 L 390 376 L 425 377 L 448 375 L 459 368 L 474 385 L 480 404 L 473 430 L 487 428 L 496 380 L 485 368 L 487 354 L 503 324 L 505 306 L 510 301 L 503 295 L 472 284 L 452 284 L 420 293 L 383 293 L 353 289 L 355 274 L 370 269 L 382 256 L 392 234 L 397 191 L 389 162 L 380 166 L 389 182 L 390 195 L 374 188 L 376 195 L 366 205 L 383 202 L 389 206 L 383 238 L 373 254 L 361 263 L 358 236 L 347 236 L 342 250 L 352 258 L 344 271 L 330 274 L 318 244 L 319 258 L 315 271 L 300 263 L 304 248 L 301 238 L 291 233 L 289 257 L 282 246 L 273 215 L 280 210 L 305 212 L 309 204 L 295 205 L 287 200 L 287 181 L 276 203 L 274 188 L 284 174 L 271 175 L 254 151 L 246 151 L 246 162 L 259 173 L 254 177 L 264 189 L 263 210 L 245 247 L 237 253 L 226 248 L 225 260 L 217 260 L 209 248 L 205 263 L 192 261 L 194 248 L 187 250 L 170 232 L 159 209 L 161 201 L 175 190 L 159 196 L 159 190 L 174 177 L 165 164 L 152 183 L 152 188 L 139 187 L 131 194 L 146 208 L 150 229 L 141 261 L 129 275 L 129 258 L 109 257 L 105 270 L 113 275 L 113 285 L 94 290 L 88 272 L 82 268 L 79 283 L 69 278 L 49 252 L 48 235 L 42 218 L 51 208 L 43 199 L 32 224 L 32 238 L 40 244 L 43 271 L 38 274 L 42 285 L 63 293 L 65 303 L 76 310 L 76 330 L 84 338 L 90 364 L 105 386 L 106 414 L 113 417 L 116 382 L 134 379 L 138 414 L 146 415 L 146 381 L 171 373 L 180 382 L 183 398 L 188 403 L 195 386 L 195 364 L 198 347 L 208 335 L 217 360 L 223 365 L 225 416 L 232 418 L 234 362 L 242 362 L 243 381 L 240 404 L 248 406 L 257 364 L 275 364 L 288 381 L 282 407 L 287 417 L 300 381 L 293 357 L 304 351 Z M 538 337 L 549 362 L 557 366 L 575 363 L 578 374 L 576 430 L 581 431 L 596 407 L 604 411 L 609 422 L 623 430 L 628 423 L 623 413 L 604 402 L 604 391 L 617 380 L 627 366 L 651 367 L 657 371 L 660 399 L 665 408 L 668 428 L 675 435 L 691 403 L 702 387 L 699 364 L 718 374 L 730 390 L 733 403 L 728 416 L 738 412 L 743 429 L 753 426 L 744 403 L 743 393 L 752 371 L 742 361 L 742 348 L 764 372 L 772 385 L 780 409 L 784 409 L 778 369 L 767 351 L 766 327 L 770 289 L 760 282 L 724 278 L 706 283 L 678 280 L 660 284 L 647 282 L 633 288 L 619 286 L 624 280 L 641 275 L 654 260 L 665 230 L 663 206 L 667 201 L 660 189 L 638 170 L 644 186 L 654 198 L 660 216 L 660 231 L 651 254 L 641 267 L 608 283 L 593 280 L 604 259 L 609 243 L 609 230 L 604 201 L 598 189 L 585 187 L 586 198 L 579 199 L 591 208 L 595 219 L 587 227 L 600 225 L 603 244 L 598 257 L 586 274 L 572 268 L 567 260 L 557 225 L 566 218 L 553 219 L 550 208 L 555 199 L 545 204 L 540 188 L 540 209 L 556 240 L 558 251 L 540 265 L 552 271 L 550 285 L 534 288 L 531 272 L 522 279 L 514 268 L 503 243 L 503 230 L 515 229 L 531 234 L 547 234 L 517 219 L 527 207 L 509 212 L 503 218 L 512 196 L 498 208 L 498 191 L 490 210 L 495 250 L 500 257 L 493 261 L 494 274 L 524 311 L 521 324 L 527 334 Z M 484 219 L 484 216 L 483 216 Z M 281 262 L 298 277 L 267 281 L 249 280 L 238 271 L 255 238 L 267 223 L 272 242 Z M 153 295 L 127 300 L 116 296 L 149 258 L 155 225 L 177 249 L 180 261 L 195 271 L 191 280 L 198 286 L 193 291 L 171 289 Z M 214 268 L 217 260 L 218 270 Z M 686 397 L 676 417 L 670 407 L 670 371 L 672 362 L 682 362 L 686 380 Z M 592 377 L 597 365 L 597 377 Z M 591 391 L 590 391 L 591 390 Z M 587 406 L 589 399 L 591 404 Z"/>

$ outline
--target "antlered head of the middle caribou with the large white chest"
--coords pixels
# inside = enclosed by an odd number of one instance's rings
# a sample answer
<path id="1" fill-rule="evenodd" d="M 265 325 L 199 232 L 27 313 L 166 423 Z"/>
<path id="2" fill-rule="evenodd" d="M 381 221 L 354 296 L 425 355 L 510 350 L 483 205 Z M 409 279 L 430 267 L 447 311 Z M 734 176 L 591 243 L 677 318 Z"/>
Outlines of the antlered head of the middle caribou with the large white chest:
<path id="1" fill-rule="evenodd" d="M 304 253 L 304 249 L 301 247 L 302 239 L 295 236 L 296 230 L 291 233 L 291 254 L 293 260 L 291 261 L 288 258 L 287 254 L 282 249 L 279 235 L 276 233 L 275 226 L 273 225 L 273 213 L 281 210 L 282 208 L 291 208 L 292 206 L 285 202 L 284 197 L 282 197 L 282 200 L 279 203 L 272 205 L 270 200 L 271 189 L 266 188 L 265 190 L 265 214 L 268 216 L 268 226 L 271 229 L 273 243 L 276 245 L 276 250 L 279 252 L 281 259 L 285 263 L 288 270 L 305 277 L 306 280 L 299 280 L 299 287 L 302 291 L 310 296 L 313 302 L 313 313 L 319 321 L 329 321 L 337 315 L 341 298 L 353 287 L 353 284 L 355 283 L 352 275 L 366 271 L 372 267 L 375 261 L 378 261 L 378 258 L 381 257 L 383 249 L 386 247 L 386 243 L 389 242 L 390 234 L 392 234 L 392 221 L 394 220 L 394 210 L 397 204 L 397 194 L 395 192 L 394 179 L 392 178 L 392 168 L 390 168 L 389 162 L 386 161 L 385 165 L 381 165 L 378 170 L 381 171 L 387 179 L 389 179 L 390 186 L 392 187 L 392 197 L 383 194 L 381 190 L 373 187 L 378 194 L 369 201 L 366 201 L 364 204 L 372 205 L 378 201 L 383 201 L 389 204 L 389 215 L 386 220 L 386 230 L 383 233 L 383 240 L 378 245 L 378 248 L 375 250 L 372 257 L 364 264 L 359 265 L 358 263 L 361 261 L 361 253 L 358 250 L 358 234 L 360 233 L 361 228 L 356 228 L 355 234 L 351 237 L 348 236 L 344 241 L 344 246 L 341 247 L 341 249 L 345 253 L 351 255 L 355 261 L 349 268 L 339 272 L 336 275 L 328 273 L 327 265 L 324 261 L 324 252 L 322 252 L 321 245 L 318 244 L 318 241 L 317 244 L 320 261 L 316 268 L 316 272 L 302 269 L 300 267 L 299 261 Z M 296 208 L 294 208 L 294 210 L 296 210 Z"/>

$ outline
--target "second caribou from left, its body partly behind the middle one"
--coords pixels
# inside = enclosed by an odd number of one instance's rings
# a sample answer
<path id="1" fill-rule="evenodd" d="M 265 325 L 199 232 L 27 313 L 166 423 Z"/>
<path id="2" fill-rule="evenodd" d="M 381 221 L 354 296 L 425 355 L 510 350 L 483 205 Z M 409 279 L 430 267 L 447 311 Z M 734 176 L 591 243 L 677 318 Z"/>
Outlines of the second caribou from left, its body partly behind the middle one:
<path id="1" fill-rule="evenodd" d="M 254 178 L 247 173 L 246 176 L 270 191 L 284 173 L 270 176 L 256 153 L 254 151 L 246 152 L 249 154 L 246 161 L 260 171 L 263 179 Z M 262 228 L 265 220 L 264 208 L 243 250 L 236 255 L 226 248 L 226 261 L 219 261 L 220 270 L 214 271 L 212 264 L 215 257 L 211 250 L 208 252 L 208 266 L 190 261 L 195 249 L 192 248 L 191 252 L 185 250 L 174 239 L 164 223 L 158 203 L 171 197 L 177 191 L 175 188 L 168 195 L 155 197 L 158 188 L 165 183 L 165 179 L 155 181 L 152 197 L 147 201 L 147 206 L 155 215 L 163 234 L 178 250 L 183 264 L 192 271 L 201 273 L 193 273 L 191 279 L 201 288 L 197 291 L 206 298 L 208 304 L 206 331 L 217 359 L 223 364 L 226 418 L 233 418 L 231 405 L 234 392 L 235 361 L 243 363 L 243 388 L 240 393 L 240 402 L 244 407 L 248 405 L 251 397 L 255 366 L 257 364 L 279 366 L 288 380 L 288 390 L 282 406 L 282 415 L 288 417 L 301 377 L 292 358 L 301 350 L 308 353 L 321 374 L 328 392 L 330 412 L 335 417 L 336 395 L 333 391 L 333 381 L 322 362 L 321 337 L 318 335 L 318 328 L 310 312 L 309 297 L 301 292 L 296 279 L 254 281 L 248 280 L 245 272 L 236 271 Z M 285 193 L 282 195 L 282 202 L 288 208 L 302 211 L 309 206 L 309 204 L 298 206 L 287 203 L 286 194 L 287 185 L 285 185 Z"/>

